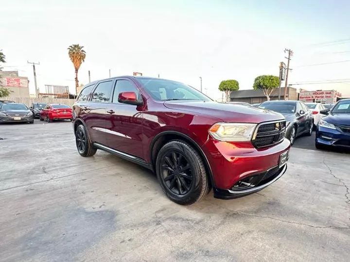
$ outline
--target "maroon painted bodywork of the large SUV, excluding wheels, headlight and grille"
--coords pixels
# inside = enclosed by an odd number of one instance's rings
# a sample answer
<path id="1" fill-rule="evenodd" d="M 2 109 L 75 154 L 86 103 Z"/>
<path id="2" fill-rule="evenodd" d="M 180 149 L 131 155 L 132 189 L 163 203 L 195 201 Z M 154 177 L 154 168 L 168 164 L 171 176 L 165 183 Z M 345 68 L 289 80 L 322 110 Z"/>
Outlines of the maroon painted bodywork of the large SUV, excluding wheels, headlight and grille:
<path id="1" fill-rule="evenodd" d="M 220 142 L 208 130 L 217 122 L 261 123 L 282 120 L 278 113 L 243 105 L 214 101 L 157 101 L 135 77 L 121 77 L 135 85 L 141 105 L 121 103 L 76 102 L 73 120 L 83 122 L 90 139 L 153 164 L 152 145 L 159 134 L 179 132 L 192 139 L 204 152 L 212 171 L 214 187 L 229 189 L 242 178 L 278 165 L 280 154 L 290 148 L 288 140 L 255 148 L 251 142 Z M 135 99 L 123 93 L 123 98 Z M 118 98 L 121 98 L 119 96 Z M 88 111 L 82 108 L 88 107 Z M 113 114 L 106 113 L 113 111 Z M 88 114 L 87 114 L 88 112 Z"/>

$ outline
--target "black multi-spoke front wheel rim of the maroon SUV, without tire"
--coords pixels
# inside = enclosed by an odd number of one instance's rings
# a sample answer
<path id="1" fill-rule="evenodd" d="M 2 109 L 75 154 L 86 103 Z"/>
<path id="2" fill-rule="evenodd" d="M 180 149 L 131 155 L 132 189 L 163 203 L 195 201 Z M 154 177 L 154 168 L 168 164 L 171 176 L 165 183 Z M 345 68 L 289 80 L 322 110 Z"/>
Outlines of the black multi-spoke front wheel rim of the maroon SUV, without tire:
<path id="1" fill-rule="evenodd" d="M 186 158 L 178 152 L 168 152 L 162 158 L 162 180 L 168 189 L 176 195 L 189 193 L 193 177 L 192 169 Z"/>

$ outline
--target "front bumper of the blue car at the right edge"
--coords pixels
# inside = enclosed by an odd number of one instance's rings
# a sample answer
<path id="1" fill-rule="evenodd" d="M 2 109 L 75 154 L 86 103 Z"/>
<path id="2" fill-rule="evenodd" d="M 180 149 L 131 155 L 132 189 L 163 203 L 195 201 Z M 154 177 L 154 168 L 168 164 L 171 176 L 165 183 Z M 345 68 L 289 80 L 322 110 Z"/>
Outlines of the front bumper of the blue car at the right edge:
<path id="1" fill-rule="evenodd" d="M 317 125 L 315 143 L 333 147 L 350 147 L 350 133 Z"/>

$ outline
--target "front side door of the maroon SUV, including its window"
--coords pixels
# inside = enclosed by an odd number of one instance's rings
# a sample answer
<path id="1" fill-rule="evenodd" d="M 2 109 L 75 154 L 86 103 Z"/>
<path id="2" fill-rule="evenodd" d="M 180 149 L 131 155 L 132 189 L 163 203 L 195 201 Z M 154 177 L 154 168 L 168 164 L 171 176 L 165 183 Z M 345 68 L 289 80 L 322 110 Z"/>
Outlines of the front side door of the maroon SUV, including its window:
<path id="1" fill-rule="evenodd" d="M 113 92 L 113 101 L 107 105 L 106 137 L 107 146 L 129 155 L 143 159 L 142 147 L 142 110 L 141 106 L 118 102 L 121 92 L 140 92 L 134 83 L 117 80 Z"/>

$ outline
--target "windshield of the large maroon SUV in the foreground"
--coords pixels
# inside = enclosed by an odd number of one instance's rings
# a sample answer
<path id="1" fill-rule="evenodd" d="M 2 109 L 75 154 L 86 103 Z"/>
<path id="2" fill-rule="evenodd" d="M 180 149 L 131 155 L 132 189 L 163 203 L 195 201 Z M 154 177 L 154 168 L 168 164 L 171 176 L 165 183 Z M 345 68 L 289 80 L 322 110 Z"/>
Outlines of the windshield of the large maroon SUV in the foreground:
<path id="1" fill-rule="evenodd" d="M 206 95 L 202 94 L 193 87 L 165 79 L 138 78 L 148 94 L 156 100 L 204 100 L 211 101 Z"/>

